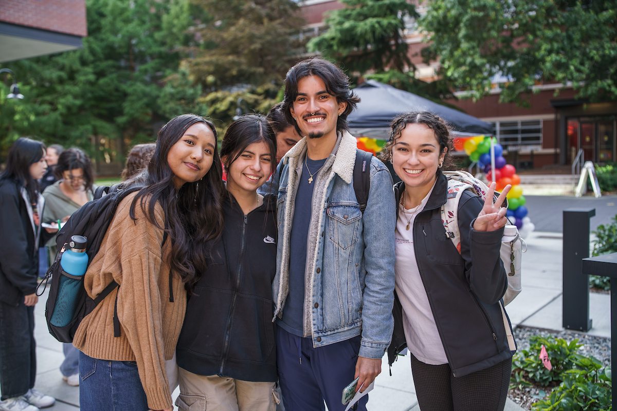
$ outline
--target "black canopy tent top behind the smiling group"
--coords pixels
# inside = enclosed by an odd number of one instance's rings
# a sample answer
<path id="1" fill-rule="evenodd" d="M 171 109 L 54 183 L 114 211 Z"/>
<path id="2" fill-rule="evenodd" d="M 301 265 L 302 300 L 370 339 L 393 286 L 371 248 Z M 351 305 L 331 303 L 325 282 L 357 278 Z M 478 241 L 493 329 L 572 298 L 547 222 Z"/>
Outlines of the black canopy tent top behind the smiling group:
<path id="1" fill-rule="evenodd" d="M 357 137 L 387 139 L 394 116 L 423 110 L 441 116 L 460 136 L 493 133 L 490 123 L 379 81 L 368 80 L 355 87 L 354 93 L 361 100 L 347 121 L 352 135 Z"/>

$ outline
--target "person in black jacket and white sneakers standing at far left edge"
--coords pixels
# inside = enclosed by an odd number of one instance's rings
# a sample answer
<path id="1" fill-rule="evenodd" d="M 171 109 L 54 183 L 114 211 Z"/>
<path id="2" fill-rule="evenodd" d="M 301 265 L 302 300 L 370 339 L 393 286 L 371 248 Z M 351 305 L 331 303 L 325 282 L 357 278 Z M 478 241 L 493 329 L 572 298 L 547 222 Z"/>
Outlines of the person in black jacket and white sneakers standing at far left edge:
<path id="1" fill-rule="evenodd" d="M 38 180 L 47 170 L 45 145 L 26 137 L 9 149 L 0 174 L 0 399 L 1 411 L 37 411 L 56 401 L 34 389 L 35 304 L 39 212 Z"/>

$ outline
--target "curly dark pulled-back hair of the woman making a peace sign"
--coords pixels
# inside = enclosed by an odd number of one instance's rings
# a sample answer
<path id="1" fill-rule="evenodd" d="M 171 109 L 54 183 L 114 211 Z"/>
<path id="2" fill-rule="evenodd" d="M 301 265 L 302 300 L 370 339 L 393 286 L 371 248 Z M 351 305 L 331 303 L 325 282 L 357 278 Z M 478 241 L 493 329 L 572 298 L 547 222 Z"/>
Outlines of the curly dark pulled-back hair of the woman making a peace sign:
<path id="1" fill-rule="evenodd" d="M 455 165 L 452 161 L 453 142 L 450 132 L 452 127 L 440 116 L 430 112 L 411 112 L 400 114 L 394 117 L 390 126 L 392 132 L 390 139 L 388 140 L 386 147 L 379 153 L 379 158 L 383 161 L 392 161 L 392 147 L 394 143 L 400 137 L 400 133 L 407 126 L 407 124 L 424 124 L 435 133 L 435 138 L 439 142 L 439 150 L 441 153 L 444 149 L 447 149 L 444 156 L 444 163 L 442 169 L 454 169 Z"/>

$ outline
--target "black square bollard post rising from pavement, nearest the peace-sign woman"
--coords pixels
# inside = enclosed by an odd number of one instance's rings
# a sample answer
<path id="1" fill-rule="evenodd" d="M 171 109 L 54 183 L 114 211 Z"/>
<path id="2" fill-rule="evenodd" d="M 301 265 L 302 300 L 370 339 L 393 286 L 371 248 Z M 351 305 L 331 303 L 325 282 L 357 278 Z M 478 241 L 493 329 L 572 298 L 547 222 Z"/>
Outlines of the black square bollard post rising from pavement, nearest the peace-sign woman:
<path id="1" fill-rule="evenodd" d="M 589 257 L 589 219 L 595 208 L 563 210 L 563 328 L 587 332 L 589 275 L 582 275 L 582 259 Z"/>

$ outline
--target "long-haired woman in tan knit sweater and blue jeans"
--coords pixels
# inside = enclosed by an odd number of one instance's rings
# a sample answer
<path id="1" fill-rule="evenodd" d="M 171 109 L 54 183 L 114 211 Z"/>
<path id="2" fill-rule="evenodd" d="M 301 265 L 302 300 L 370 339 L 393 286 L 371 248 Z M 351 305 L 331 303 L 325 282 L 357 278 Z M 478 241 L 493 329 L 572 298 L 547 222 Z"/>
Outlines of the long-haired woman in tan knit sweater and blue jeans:
<path id="1" fill-rule="evenodd" d="M 125 182 L 143 188 L 120 203 L 85 275 L 91 298 L 112 280 L 119 287 L 73 339 L 81 351 L 82 411 L 173 409 L 165 360 L 184 320 L 184 283 L 205 270 L 209 242 L 223 230 L 216 137 L 200 116 L 173 118 L 160 129 L 148 168 Z"/>

